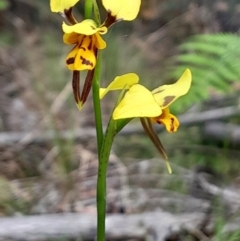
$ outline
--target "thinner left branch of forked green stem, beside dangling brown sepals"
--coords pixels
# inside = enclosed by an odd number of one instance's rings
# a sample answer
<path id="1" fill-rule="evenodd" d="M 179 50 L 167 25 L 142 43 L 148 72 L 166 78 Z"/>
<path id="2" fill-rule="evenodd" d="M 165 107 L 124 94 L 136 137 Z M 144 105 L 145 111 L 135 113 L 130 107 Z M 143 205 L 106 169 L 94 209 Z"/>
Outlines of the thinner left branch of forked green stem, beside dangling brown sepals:
<path id="1" fill-rule="evenodd" d="M 98 157 L 100 159 L 100 152 L 103 142 L 103 128 L 102 128 L 102 112 L 101 112 L 101 103 L 99 99 L 99 88 L 100 88 L 100 75 L 101 75 L 101 53 L 98 53 L 97 64 L 95 67 L 95 72 L 93 76 L 93 105 L 95 113 L 95 123 L 97 131 L 97 145 L 98 145 Z"/>

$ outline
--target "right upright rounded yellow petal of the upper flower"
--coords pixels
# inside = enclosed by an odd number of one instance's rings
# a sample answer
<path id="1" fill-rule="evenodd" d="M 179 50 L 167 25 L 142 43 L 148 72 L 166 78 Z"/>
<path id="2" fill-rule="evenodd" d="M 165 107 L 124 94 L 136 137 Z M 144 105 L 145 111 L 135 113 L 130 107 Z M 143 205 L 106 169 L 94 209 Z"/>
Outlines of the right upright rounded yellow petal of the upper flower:
<path id="1" fill-rule="evenodd" d="M 131 21 L 138 15 L 141 0 L 102 0 L 102 4 L 116 20 Z"/>

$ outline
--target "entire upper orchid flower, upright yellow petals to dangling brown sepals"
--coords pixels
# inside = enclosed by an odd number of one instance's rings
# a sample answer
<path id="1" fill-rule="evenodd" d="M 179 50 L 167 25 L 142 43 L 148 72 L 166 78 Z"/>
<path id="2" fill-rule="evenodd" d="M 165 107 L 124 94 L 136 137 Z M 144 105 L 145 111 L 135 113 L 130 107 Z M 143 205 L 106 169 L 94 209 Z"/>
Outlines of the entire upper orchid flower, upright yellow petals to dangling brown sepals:
<path id="1" fill-rule="evenodd" d="M 72 13 L 72 8 L 78 1 L 50 0 L 50 8 L 52 12 L 60 13 L 71 24 L 62 24 L 63 42 L 74 45 L 67 55 L 66 64 L 68 69 L 73 71 L 72 87 L 74 98 L 78 109 L 81 110 L 91 90 L 98 50 L 106 48 L 106 42 L 101 35 L 107 33 L 107 29 L 120 20 L 131 21 L 135 19 L 140 9 L 141 0 L 102 0 L 102 5 L 107 10 L 108 15 L 100 26 L 91 19 L 85 19 L 80 23 L 77 22 Z M 98 8 L 96 2 L 92 2 L 92 4 L 93 9 Z M 95 18 L 98 19 L 98 11 L 93 12 Z M 88 72 L 83 90 L 80 91 L 79 71 L 83 70 L 88 70 Z"/>

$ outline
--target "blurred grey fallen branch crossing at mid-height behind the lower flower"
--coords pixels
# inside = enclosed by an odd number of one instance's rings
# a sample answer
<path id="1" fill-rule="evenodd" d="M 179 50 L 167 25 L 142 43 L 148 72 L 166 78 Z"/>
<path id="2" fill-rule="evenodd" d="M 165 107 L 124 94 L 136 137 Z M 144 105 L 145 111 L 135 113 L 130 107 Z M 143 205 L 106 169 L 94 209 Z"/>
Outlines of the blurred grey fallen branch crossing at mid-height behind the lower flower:
<path id="1" fill-rule="evenodd" d="M 233 116 L 240 116 L 238 107 L 224 107 L 215 110 L 204 111 L 201 113 L 188 113 L 179 117 L 181 126 L 199 125 L 209 121 L 223 120 Z M 209 129 L 209 128 L 208 128 Z M 162 126 L 156 127 L 157 131 L 162 131 Z M 226 133 L 226 132 L 225 132 Z M 120 135 L 133 135 L 144 134 L 143 128 L 140 125 L 128 125 L 121 132 Z M 17 132 L 1 132 L 0 133 L 0 145 L 13 145 L 19 143 L 20 145 L 28 144 L 43 144 L 50 142 L 54 139 L 60 138 L 63 140 L 74 139 L 75 141 L 86 141 L 89 138 L 96 137 L 94 128 L 84 128 L 74 131 L 61 131 L 58 134 L 52 131 L 46 131 L 44 133 L 36 131 L 30 138 L 25 138 L 29 133 L 17 133 Z M 25 141 L 25 139 L 27 139 Z M 238 139 L 240 140 L 240 134 Z M 22 141 L 24 140 L 24 141 Z"/>

